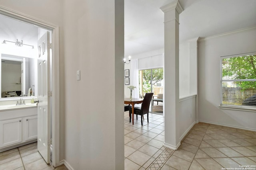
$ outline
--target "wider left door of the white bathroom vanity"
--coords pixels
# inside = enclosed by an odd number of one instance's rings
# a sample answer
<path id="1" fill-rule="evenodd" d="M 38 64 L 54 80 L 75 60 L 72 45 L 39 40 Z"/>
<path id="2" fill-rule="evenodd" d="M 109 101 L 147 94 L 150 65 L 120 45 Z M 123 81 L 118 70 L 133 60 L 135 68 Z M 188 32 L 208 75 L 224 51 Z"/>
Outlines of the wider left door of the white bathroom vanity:
<path id="1" fill-rule="evenodd" d="M 0 121 L 0 148 L 22 141 L 22 119 Z"/>

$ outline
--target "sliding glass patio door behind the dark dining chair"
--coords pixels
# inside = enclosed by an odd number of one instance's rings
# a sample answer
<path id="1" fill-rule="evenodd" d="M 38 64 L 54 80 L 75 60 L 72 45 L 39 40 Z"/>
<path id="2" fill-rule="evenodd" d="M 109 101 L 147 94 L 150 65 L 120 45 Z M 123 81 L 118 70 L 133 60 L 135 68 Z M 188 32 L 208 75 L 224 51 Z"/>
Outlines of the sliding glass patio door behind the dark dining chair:
<path id="1" fill-rule="evenodd" d="M 153 92 L 153 98 L 149 111 L 152 113 L 163 113 L 163 92 L 164 92 L 164 69 L 152 68 L 139 70 L 139 93 L 140 97 L 148 92 Z"/>

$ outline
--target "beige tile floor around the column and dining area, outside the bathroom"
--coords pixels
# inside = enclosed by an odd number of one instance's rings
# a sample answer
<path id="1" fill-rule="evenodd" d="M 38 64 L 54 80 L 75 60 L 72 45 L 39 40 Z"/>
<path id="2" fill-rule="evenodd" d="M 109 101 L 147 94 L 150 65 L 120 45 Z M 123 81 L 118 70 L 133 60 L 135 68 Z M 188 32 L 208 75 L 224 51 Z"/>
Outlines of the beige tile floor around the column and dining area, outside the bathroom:
<path id="1" fill-rule="evenodd" d="M 250 165 L 256 170 L 256 132 L 198 123 L 178 150 L 163 147 L 164 117 L 144 115 L 143 126 L 124 112 L 125 170 L 223 170 Z M 136 119 L 136 118 L 135 118 Z M 245 168 L 246 169 L 246 168 Z"/>

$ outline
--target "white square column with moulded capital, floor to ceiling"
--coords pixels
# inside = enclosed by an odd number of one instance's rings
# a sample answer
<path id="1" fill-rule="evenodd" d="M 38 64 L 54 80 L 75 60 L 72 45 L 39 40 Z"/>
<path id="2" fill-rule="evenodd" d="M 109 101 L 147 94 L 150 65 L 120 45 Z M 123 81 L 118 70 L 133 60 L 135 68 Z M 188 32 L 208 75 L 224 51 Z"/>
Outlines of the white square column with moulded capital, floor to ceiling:
<path id="1" fill-rule="evenodd" d="M 164 146 L 178 149 L 179 139 L 179 14 L 178 1 L 160 8 L 164 12 Z"/>

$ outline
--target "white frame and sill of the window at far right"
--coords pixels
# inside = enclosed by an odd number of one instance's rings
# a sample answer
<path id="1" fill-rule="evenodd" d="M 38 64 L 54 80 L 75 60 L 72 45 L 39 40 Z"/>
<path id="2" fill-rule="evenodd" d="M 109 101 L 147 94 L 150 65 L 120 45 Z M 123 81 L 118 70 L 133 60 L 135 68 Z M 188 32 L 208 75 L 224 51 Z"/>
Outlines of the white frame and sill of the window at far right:
<path id="1" fill-rule="evenodd" d="M 236 79 L 236 80 L 223 80 L 222 79 L 222 59 L 227 59 L 227 58 L 234 58 L 234 57 L 243 57 L 247 55 L 256 55 L 256 52 L 250 52 L 250 53 L 241 53 L 241 54 L 236 54 L 236 55 L 226 55 L 226 56 L 221 56 L 220 57 L 220 109 L 229 109 L 229 110 L 240 110 L 240 111 L 252 111 L 256 112 L 256 106 L 247 106 L 247 105 L 232 105 L 232 104 L 223 104 L 222 103 L 222 83 L 223 82 L 237 82 L 237 81 L 255 81 L 256 79 Z"/>

